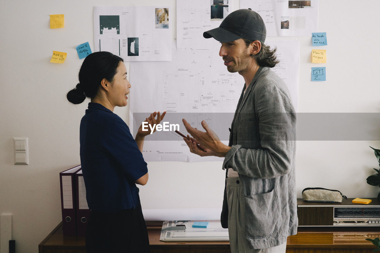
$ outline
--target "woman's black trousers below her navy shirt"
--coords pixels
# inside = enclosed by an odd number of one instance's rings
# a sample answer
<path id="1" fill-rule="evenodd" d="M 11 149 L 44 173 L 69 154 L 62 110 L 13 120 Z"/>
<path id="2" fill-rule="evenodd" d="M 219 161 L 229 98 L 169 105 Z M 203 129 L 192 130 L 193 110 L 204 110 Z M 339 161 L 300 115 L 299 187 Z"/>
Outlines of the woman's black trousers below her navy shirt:
<path id="1" fill-rule="evenodd" d="M 86 229 L 86 249 L 89 253 L 149 252 L 141 204 L 119 212 L 92 210 Z"/>

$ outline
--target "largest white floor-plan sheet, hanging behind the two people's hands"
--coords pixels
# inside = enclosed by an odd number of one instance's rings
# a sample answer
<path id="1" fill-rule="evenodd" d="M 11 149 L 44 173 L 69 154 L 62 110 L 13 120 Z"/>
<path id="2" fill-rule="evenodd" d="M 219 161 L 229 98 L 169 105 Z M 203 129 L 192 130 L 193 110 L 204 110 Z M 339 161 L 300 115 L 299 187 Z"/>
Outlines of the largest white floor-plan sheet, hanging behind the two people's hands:
<path id="1" fill-rule="evenodd" d="M 206 120 L 220 140 L 228 145 L 228 128 L 231 127 L 244 88 L 244 79 L 238 73 L 227 71 L 222 57 L 218 55 L 220 44 L 210 40 L 215 46 L 213 51 L 201 54 L 176 52 L 173 45 L 171 62 L 130 64 L 132 87 L 128 103 L 133 136 L 142 121 L 154 111 L 167 111 L 163 122 L 178 125 L 172 131 L 156 131 L 146 136 L 142 152 L 146 161 L 223 160 L 190 153 L 182 137 L 174 132 L 179 130 L 187 135 L 182 119 L 200 130 L 203 130 L 201 121 Z M 280 63 L 272 70 L 288 85 L 294 107 L 297 108 L 299 42 L 269 41 L 267 44 L 277 47 L 276 55 Z"/>

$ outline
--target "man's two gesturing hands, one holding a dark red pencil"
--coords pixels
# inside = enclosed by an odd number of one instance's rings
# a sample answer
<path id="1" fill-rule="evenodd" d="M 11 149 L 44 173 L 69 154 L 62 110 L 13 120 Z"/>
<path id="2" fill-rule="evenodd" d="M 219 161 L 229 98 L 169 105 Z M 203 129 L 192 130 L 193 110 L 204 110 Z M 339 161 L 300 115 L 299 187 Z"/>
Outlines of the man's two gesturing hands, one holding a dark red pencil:
<path id="1" fill-rule="evenodd" d="M 187 123 L 185 119 L 182 119 L 182 122 L 184 123 L 187 132 L 190 133 L 193 137 L 187 138 L 187 140 L 185 140 L 186 138 L 184 138 L 186 144 L 190 148 L 190 152 L 201 156 L 214 155 L 217 157 L 225 157 L 228 150 L 231 149 L 231 147 L 224 145 L 220 141 L 219 137 L 214 133 L 214 131 L 211 130 L 209 125 L 207 125 L 206 121 L 202 120 L 201 122 L 202 127 L 204 128 L 204 130 L 206 130 L 206 132 L 202 132 L 196 128 L 193 128 L 192 126 L 190 126 L 189 123 Z M 206 150 L 206 152 L 199 150 L 196 147 L 196 144 L 200 144 L 201 147 Z"/>

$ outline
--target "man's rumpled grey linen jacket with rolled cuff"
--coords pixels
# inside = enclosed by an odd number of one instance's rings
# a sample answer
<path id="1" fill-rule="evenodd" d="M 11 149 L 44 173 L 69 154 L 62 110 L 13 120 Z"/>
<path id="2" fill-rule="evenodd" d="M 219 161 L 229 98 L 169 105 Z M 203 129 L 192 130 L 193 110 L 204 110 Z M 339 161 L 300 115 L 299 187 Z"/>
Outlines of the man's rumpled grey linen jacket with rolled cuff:
<path id="1" fill-rule="evenodd" d="M 260 67 L 244 90 L 223 169 L 232 168 L 241 179 L 249 244 L 269 248 L 297 234 L 296 114 L 286 84 L 270 68 Z M 228 226 L 226 190 L 221 221 Z"/>

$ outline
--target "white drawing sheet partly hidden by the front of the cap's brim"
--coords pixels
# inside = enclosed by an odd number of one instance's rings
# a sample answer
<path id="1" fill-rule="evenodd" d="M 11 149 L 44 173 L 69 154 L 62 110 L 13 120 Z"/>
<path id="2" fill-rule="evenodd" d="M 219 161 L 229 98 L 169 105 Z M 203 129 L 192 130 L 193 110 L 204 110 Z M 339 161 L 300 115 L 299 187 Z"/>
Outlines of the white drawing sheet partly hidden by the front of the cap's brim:
<path id="1" fill-rule="evenodd" d="M 212 48 L 203 32 L 220 25 L 231 12 L 232 0 L 177 0 L 178 51 L 202 52 Z"/>

